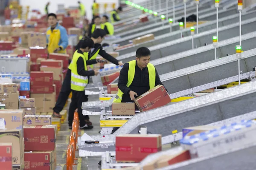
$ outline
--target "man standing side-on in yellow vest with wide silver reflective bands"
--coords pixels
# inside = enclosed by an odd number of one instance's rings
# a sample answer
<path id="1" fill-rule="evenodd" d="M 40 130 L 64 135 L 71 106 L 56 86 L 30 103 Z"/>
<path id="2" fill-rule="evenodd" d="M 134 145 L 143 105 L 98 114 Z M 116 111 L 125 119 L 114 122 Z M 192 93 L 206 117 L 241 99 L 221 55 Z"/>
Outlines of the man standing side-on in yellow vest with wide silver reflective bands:
<path id="1" fill-rule="evenodd" d="M 96 76 L 98 71 L 87 70 L 87 63 L 85 54 L 88 56 L 88 52 L 93 48 L 94 42 L 90 38 L 81 41 L 80 48 L 75 51 L 73 59 L 70 63 L 69 69 L 71 70 L 70 88 L 72 91 L 72 99 L 68 112 L 68 125 L 72 129 L 72 122 L 74 119 L 74 112 L 78 109 L 80 129 L 92 129 L 93 126 L 89 125 L 85 119 L 89 120 L 89 116 L 83 116 L 82 104 L 87 101 L 87 96 L 84 94 L 84 88 L 88 84 L 90 76 Z"/>

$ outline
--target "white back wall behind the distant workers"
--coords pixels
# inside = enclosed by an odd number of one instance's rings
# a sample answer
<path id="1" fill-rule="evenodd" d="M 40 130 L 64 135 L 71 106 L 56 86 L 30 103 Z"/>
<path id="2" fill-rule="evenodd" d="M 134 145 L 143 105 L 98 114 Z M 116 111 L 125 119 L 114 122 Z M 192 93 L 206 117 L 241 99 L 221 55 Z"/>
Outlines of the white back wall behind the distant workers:
<path id="1" fill-rule="evenodd" d="M 21 6 L 30 6 L 30 10 L 38 9 L 41 11 L 42 14 L 45 14 L 44 8 L 47 2 L 50 2 L 50 6 L 48 8 L 50 13 L 56 13 L 58 9 L 58 4 L 64 4 L 65 8 L 69 6 L 78 6 L 77 1 L 79 0 L 20 0 Z M 80 0 L 81 3 L 84 4 L 87 17 L 91 20 L 92 19 L 92 4 L 93 0 Z M 136 0 L 137 1 L 137 0 Z M 97 0 L 97 3 L 116 3 L 116 8 L 119 6 L 119 0 Z"/>

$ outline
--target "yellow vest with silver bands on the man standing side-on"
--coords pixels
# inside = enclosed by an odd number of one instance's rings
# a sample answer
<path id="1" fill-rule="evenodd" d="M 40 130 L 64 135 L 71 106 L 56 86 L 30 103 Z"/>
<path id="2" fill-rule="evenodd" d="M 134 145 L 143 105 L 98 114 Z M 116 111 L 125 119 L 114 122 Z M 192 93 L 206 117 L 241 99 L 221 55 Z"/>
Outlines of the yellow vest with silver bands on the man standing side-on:
<path id="1" fill-rule="evenodd" d="M 74 91 L 84 91 L 84 88 L 88 84 L 88 77 L 87 76 L 80 76 L 77 73 L 77 65 L 76 62 L 79 59 L 79 57 L 82 57 L 84 59 L 84 70 L 87 71 L 87 65 L 86 65 L 86 59 L 83 54 L 80 54 L 77 52 L 74 53 L 73 59 L 70 63 L 69 69 L 71 70 L 71 89 Z M 88 57 L 88 53 L 87 53 Z"/>

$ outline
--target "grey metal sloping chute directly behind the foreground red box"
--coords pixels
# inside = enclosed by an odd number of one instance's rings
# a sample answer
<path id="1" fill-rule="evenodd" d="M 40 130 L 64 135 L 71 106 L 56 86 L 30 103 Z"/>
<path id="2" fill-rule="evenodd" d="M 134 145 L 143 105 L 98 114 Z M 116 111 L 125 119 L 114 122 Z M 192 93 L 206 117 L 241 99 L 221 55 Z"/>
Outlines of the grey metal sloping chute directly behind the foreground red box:
<path id="1" fill-rule="evenodd" d="M 253 81 L 136 114 L 112 135 L 91 136 L 98 140 L 99 144 L 80 142 L 79 154 L 80 150 L 81 153 L 82 150 L 104 152 L 105 148 L 101 149 L 102 145 L 108 147 L 108 151 L 114 151 L 113 144 L 116 135 L 138 133 L 140 126 L 146 126 L 148 132 L 152 134 L 162 134 L 162 144 L 167 144 L 179 140 L 179 136 L 172 134 L 173 130 L 180 133 L 184 127 L 207 125 L 250 113 L 256 110 L 255 105 L 256 81 Z"/>

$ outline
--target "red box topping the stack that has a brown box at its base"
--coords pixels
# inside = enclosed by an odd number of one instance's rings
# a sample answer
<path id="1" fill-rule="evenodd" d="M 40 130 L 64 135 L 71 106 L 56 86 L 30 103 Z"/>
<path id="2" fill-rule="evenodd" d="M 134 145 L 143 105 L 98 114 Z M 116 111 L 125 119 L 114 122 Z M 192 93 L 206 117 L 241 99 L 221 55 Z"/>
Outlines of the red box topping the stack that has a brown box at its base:
<path id="1" fill-rule="evenodd" d="M 30 72 L 30 84 L 53 85 L 53 72 L 32 71 Z"/>

